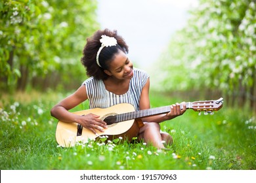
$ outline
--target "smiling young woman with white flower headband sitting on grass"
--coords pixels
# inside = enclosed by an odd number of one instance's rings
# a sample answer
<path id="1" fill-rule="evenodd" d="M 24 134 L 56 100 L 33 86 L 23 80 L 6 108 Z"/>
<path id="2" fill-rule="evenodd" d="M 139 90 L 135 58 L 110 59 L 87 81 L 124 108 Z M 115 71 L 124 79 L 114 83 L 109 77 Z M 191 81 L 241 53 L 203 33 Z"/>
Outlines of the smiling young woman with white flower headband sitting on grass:
<path id="1" fill-rule="evenodd" d="M 135 110 L 150 108 L 150 78 L 147 73 L 133 67 L 127 57 L 128 46 L 117 31 L 104 29 L 96 31 L 87 39 L 81 63 L 91 76 L 74 92 L 55 105 L 51 115 L 62 122 L 76 122 L 93 131 L 104 131 L 107 125 L 100 116 L 87 114 L 78 116 L 68 112 L 79 103 L 89 99 L 90 108 L 107 108 L 118 103 L 131 103 Z M 163 141 L 171 144 L 173 139 L 168 133 L 160 131 L 160 122 L 171 120 L 186 111 L 185 103 L 171 105 L 171 112 L 143 118 L 138 139 L 152 144 L 158 149 L 165 148 Z"/>

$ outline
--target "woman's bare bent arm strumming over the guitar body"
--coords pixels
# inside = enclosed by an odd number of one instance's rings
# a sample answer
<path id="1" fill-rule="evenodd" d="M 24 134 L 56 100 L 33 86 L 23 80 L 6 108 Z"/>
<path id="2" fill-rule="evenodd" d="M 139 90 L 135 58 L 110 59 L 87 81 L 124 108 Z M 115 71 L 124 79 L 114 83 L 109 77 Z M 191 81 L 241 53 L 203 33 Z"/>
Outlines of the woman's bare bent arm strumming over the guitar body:
<path id="1" fill-rule="evenodd" d="M 55 105 L 51 109 L 51 115 L 62 122 L 76 122 L 78 124 L 81 124 L 83 127 L 86 127 L 87 129 L 93 131 L 93 133 L 96 133 L 95 129 L 98 129 L 99 131 L 104 131 L 103 128 L 106 128 L 106 123 L 99 119 L 100 116 L 95 114 L 79 116 L 68 111 L 87 99 L 88 97 L 85 86 L 80 86 L 80 88 L 78 88 L 75 93 L 66 97 L 65 99 L 60 101 L 60 103 Z"/>

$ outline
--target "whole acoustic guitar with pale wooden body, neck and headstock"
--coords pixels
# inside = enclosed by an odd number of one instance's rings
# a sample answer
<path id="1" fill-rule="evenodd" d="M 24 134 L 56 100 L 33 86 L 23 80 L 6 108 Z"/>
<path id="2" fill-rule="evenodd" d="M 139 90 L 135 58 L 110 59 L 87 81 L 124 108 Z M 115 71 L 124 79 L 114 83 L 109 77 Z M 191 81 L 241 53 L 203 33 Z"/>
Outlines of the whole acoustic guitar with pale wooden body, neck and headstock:
<path id="1" fill-rule="evenodd" d="M 213 111 L 219 110 L 222 106 L 223 98 L 211 101 L 194 101 L 186 103 L 186 108 L 198 111 L 200 114 L 201 112 L 204 112 L 205 114 L 213 114 Z M 137 137 L 139 128 L 143 125 L 141 118 L 166 114 L 170 111 L 170 106 L 135 111 L 133 105 L 129 103 L 121 103 L 108 108 L 80 110 L 74 112 L 74 114 L 96 114 L 100 116 L 101 120 L 106 122 L 108 129 L 104 129 L 104 132 L 96 130 L 97 134 L 95 135 L 91 130 L 86 129 L 80 124 L 58 121 L 56 127 L 56 141 L 62 147 L 72 147 L 75 146 L 76 142 L 85 143 L 90 140 L 96 140 L 100 136 L 106 136 L 110 140 L 123 137 L 124 139 L 131 141 L 133 137 Z"/>

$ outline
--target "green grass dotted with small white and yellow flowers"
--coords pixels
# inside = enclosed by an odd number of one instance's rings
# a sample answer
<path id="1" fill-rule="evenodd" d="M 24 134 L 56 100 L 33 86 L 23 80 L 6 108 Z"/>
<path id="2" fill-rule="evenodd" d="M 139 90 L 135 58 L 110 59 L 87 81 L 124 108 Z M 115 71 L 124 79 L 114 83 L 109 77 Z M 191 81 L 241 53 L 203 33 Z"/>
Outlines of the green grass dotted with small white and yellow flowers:
<path id="1" fill-rule="evenodd" d="M 161 123 L 174 143 L 158 151 L 142 142 L 91 141 L 61 148 L 55 141 L 51 107 L 65 97 L 56 93 L 2 95 L 0 101 L 0 169 L 256 169 L 256 119 L 252 112 L 225 105 L 213 116 L 188 110 Z M 152 107 L 180 99 L 151 94 Z M 74 110 L 87 107 L 87 103 Z"/>

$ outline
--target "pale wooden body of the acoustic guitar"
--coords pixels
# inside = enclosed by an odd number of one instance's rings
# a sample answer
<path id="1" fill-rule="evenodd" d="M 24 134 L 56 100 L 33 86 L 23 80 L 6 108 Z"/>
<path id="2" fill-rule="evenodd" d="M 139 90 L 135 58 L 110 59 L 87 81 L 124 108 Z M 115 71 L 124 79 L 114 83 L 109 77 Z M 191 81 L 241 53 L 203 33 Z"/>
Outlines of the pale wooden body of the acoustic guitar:
<path id="1" fill-rule="evenodd" d="M 100 116 L 101 120 L 104 118 L 116 114 L 122 114 L 125 112 L 133 112 L 135 108 L 129 103 L 121 103 L 109 108 L 93 108 L 89 110 L 80 110 L 74 112 L 77 115 L 96 114 Z M 108 135 L 108 139 L 114 139 L 115 137 L 123 137 L 124 139 L 132 140 L 139 134 L 139 122 L 140 119 L 128 120 L 124 122 L 114 123 L 108 125 L 108 129 L 104 129 L 104 132 L 97 131 L 98 135 L 95 135 L 91 130 L 83 127 L 81 134 L 77 135 L 77 123 L 67 123 L 58 121 L 56 127 L 56 141 L 60 146 L 71 147 L 75 145 L 75 142 L 88 142 L 90 139 L 95 140 L 102 135 Z"/>

